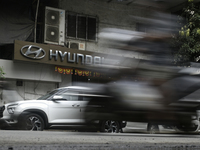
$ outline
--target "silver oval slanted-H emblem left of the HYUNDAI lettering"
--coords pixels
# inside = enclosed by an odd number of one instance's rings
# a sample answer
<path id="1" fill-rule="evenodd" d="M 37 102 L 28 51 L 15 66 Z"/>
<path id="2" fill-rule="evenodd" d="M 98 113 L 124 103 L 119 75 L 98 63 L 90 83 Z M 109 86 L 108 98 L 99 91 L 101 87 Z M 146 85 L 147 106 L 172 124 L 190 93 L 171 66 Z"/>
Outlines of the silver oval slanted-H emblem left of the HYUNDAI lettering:
<path id="1" fill-rule="evenodd" d="M 23 56 L 30 59 L 42 59 L 45 57 L 46 52 L 35 45 L 25 45 L 21 48 L 21 53 Z"/>

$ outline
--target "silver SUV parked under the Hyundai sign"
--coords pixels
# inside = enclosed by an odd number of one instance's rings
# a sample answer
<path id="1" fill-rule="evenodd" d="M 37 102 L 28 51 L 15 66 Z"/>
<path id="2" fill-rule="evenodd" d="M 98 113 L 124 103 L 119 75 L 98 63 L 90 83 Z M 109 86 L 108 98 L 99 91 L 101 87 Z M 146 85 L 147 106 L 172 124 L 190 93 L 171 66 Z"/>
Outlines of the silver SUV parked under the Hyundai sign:
<path id="1" fill-rule="evenodd" d="M 119 132 L 126 126 L 126 122 L 95 120 L 88 123 L 85 120 L 84 109 L 89 99 L 96 96 L 99 95 L 95 95 L 95 88 L 81 86 L 58 88 L 37 100 L 5 104 L 3 117 L 0 120 L 4 120 L 8 127 L 23 130 L 87 127 L 102 132 Z"/>

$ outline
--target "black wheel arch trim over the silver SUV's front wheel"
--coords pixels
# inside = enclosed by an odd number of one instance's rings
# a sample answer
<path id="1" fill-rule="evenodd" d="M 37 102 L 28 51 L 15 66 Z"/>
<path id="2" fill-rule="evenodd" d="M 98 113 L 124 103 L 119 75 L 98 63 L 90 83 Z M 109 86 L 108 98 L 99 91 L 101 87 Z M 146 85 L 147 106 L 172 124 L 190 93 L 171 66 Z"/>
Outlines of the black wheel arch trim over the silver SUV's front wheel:
<path id="1" fill-rule="evenodd" d="M 37 114 L 40 117 L 42 117 L 42 119 L 44 120 L 44 128 L 48 128 L 49 127 L 47 114 L 43 110 L 40 110 L 40 109 L 27 109 L 27 110 L 24 110 L 20 114 L 19 119 L 22 119 L 24 116 L 26 116 L 27 114 L 30 114 L 30 113 L 34 113 L 34 114 Z"/>

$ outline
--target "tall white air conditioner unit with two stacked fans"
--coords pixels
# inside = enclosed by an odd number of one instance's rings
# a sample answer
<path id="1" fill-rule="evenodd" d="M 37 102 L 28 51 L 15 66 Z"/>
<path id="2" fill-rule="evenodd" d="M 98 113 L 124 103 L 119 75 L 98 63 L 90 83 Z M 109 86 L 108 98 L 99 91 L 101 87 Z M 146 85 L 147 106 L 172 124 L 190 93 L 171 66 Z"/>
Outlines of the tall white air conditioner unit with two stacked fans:
<path id="1" fill-rule="evenodd" d="M 46 7 L 44 43 L 64 45 L 65 41 L 65 10 Z"/>

